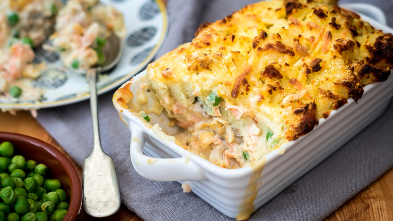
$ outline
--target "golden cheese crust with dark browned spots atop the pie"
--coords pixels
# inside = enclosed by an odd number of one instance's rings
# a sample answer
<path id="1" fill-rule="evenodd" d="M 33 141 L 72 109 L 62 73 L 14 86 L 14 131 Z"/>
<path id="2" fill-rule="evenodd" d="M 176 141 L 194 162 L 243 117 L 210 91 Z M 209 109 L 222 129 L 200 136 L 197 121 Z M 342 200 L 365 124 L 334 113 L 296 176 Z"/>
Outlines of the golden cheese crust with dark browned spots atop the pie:
<path id="1" fill-rule="evenodd" d="M 202 24 L 191 43 L 149 67 L 162 74 L 163 81 L 203 70 L 221 75 L 220 84 L 227 87 L 221 96 L 235 105 L 247 106 L 247 92 L 256 87 L 262 98 L 258 105 L 284 110 L 286 138 L 294 140 L 348 98 L 361 98 L 364 85 L 386 80 L 393 65 L 391 34 L 374 30 L 334 2 L 319 2 L 246 6 Z M 251 70 L 244 72 L 248 66 Z M 301 88 L 307 89 L 306 95 L 283 103 Z"/>

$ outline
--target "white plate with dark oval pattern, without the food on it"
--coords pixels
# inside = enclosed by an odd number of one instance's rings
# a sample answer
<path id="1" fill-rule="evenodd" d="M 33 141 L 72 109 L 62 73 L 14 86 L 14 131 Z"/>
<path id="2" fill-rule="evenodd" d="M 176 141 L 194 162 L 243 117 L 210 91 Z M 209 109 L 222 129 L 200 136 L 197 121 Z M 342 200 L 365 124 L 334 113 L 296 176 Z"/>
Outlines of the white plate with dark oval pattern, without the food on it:
<path id="1" fill-rule="evenodd" d="M 68 0 L 61 0 L 65 3 Z M 162 0 L 101 0 L 119 10 L 125 20 L 127 35 L 121 59 L 109 73 L 100 74 L 98 94 L 121 85 L 139 73 L 153 59 L 161 46 L 168 28 L 168 15 Z M 90 96 L 84 75 L 63 67 L 56 52 L 43 48 L 35 50 L 34 63 L 44 61 L 48 69 L 32 82 L 44 92 L 40 101 L 9 100 L 0 97 L 0 108 L 6 110 L 39 109 L 66 105 Z"/>

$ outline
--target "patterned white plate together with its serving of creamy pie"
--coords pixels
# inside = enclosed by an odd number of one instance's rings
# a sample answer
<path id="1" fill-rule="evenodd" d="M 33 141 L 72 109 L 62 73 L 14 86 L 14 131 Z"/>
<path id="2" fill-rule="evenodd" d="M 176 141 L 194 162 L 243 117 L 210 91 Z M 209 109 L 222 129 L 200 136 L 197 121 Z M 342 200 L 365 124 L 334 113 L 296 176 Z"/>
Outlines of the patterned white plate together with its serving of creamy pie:
<path id="1" fill-rule="evenodd" d="M 0 37 L 0 109 L 12 112 L 87 99 L 85 75 L 74 68 L 102 64 L 101 52 L 108 44 L 102 45 L 112 33 L 124 37 L 121 58 L 110 72 L 99 75 L 97 89 L 102 94 L 118 87 L 151 61 L 168 22 L 160 0 L 6 0 L 0 1 L 0 20 L 4 21 L 0 27 L 4 37 Z M 10 47 L 13 44 L 16 49 Z M 13 74 L 9 73 L 11 57 L 17 67 L 12 68 Z M 19 96 L 9 93 L 13 86 L 21 89 Z"/>

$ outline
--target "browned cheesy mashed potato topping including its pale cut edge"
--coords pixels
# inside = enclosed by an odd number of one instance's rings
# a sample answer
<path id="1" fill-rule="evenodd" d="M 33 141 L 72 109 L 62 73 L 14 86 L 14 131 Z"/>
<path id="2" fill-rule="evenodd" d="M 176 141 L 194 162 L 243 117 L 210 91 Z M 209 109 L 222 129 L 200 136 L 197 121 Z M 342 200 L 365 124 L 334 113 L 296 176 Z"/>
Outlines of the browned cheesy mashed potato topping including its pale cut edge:
<path id="1" fill-rule="evenodd" d="M 272 0 L 202 24 L 192 42 L 149 64 L 148 74 L 184 127 L 195 125 L 177 116 L 193 104 L 185 97 L 204 106 L 214 92 L 221 102 L 205 117 L 229 122 L 239 140 L 248 138 L 238 131 L 255 123 L 275 148 L 310 132 L 349 98 L 360 99 L 363 87 L 386 80 L 392 67 L 393 35 L 337 1 Z M 266 140 L 268 131 L 277 145 Z"/>

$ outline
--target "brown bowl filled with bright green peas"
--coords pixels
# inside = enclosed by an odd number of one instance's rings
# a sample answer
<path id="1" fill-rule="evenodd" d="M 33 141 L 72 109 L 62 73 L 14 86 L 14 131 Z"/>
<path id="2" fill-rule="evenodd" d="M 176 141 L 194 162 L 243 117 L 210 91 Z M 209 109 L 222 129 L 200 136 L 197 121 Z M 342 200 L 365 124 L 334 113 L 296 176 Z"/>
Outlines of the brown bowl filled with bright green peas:
<path id="1" fill-rule="evenodd" d="M 82 184 L 73 163 L 54 146 L 0 132 L 0 221 L 76 220 Z"/>

